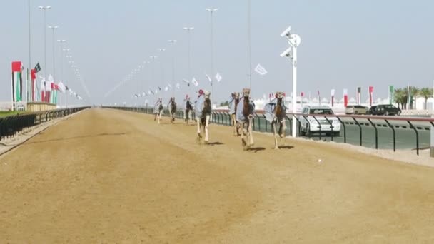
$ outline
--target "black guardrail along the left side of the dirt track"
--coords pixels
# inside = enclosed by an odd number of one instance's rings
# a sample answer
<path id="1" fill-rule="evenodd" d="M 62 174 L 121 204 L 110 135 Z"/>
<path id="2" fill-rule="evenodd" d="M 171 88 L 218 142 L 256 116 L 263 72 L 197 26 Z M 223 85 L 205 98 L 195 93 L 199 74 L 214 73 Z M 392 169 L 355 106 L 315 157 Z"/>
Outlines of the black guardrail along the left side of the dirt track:
<path id="1" fill-rule="evenodd" d="M 34 113 L 17 113 L 14 116 L 0 117 L 0 141 L 5 138 L 16 136 L 17 133 L 32 126 L 51 121 L 55 118 L 69 116 L 72 113 L 84 110 L 89 107 L 64 108 L 51 111 L 41 111 Z"/>

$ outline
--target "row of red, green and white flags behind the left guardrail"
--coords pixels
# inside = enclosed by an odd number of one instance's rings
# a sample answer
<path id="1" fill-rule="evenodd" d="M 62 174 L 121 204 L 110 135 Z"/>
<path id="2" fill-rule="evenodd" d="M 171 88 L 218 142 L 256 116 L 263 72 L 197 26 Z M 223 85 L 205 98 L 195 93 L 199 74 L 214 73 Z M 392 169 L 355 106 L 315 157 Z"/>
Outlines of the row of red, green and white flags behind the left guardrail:
<path id="1" fill-rule="evenodd" d="M 21 61 L 11 62 L 11 82 L 12 82 L 12 102 L 23 101 L 23 76 L 24 66 Z M 58 92 L 69 93 L 69 96 L 74 96 L 79 100 L 83 100 L 79 94 L 72 91 L 64 83 L 55 83 L 53 76 L 49 76 L 48 81 L 46 78 L 40 76 L 40 91 L 36 86 L 37 73 L 41 71 L 41 66 L 39 63 L 36 64 L 34 68 L 26 72 L 27 81 L 27 101 L 40 101 L 45 103 L 57 103 Z"/>

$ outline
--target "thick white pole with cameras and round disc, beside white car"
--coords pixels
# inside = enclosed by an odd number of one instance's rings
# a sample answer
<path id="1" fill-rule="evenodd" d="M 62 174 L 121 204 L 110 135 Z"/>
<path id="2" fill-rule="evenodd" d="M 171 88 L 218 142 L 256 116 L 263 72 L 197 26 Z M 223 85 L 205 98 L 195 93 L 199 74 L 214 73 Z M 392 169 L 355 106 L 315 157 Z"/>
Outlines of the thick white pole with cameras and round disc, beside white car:
<path id="1" fill-rule="evenodd" d="M 286 57 L 293 64 L 293 114 L 297 113 L 297 47 L 300 45 L 301 39 L 297 34 L 291 34 L 291 26 L 282 32 L 281 37 L 288 39 L 289 48 L 283 51 L 281 57 Z M 292 54 L 291 54 L 292 53 Z M 292 136 L 297 135 L 297 121 L 293 119 Z"/>

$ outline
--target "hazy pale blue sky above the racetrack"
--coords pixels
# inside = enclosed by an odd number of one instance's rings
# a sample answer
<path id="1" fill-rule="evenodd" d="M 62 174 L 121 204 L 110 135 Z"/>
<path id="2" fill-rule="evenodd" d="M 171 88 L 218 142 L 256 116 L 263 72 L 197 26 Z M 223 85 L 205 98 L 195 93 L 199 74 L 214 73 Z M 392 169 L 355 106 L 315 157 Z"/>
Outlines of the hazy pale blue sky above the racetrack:
<path id="1" fill-rule="evenodd" d="M 0 8 L 0 101 L 11 100 L 10 62 L 29 66 L 28 1 L 4 1 Z M 75 78 L 66 59 L 61 61 L 55 45 L 56 81 L 63 81 L 88 104 L 143 103 L 133 94 L 164 88 L 168 83 L 181 89 L 158 93 L 168 102 L 199 88 L 213 91 L 213 101 L 226 101 L 231 92 L 248 87 L 248 0 L 31 0 L 31 66 L 39 61 L 41 75 L 54 73 L 53 36 L 46 31 L 44 67 L 44 18 L 58 25 L 55 39 L 66 39 L 76 66 L 89 90 Z M 211 22 L 213 14 L 213 63 L 222 80 L 213 88 L 205 76 L 211 72 Z M 343 96 L 347 88 L 355 97 L 362 87 L 363 101 L 368 86 L 375 97 L 388 97 L 388 86 L 430 87 L 434 79 L 434 1 L 403 0 L 251 0 L 251 66 L 258 63 L 268 74 L 252 71 L 253 98 L 292 91 L 292 65 L 279 56 L 288 47 L 280 36 L 288 26 L 301 36 L 298 47 L 298 91 L 312 96 Z M 188 34 L 191 32 L 191 76 L 188 77 Z M 168 43 L 176 39 L 175 45 Z M 163 53 L 157 49 L 166 49 Z M 135 78 L 109 91 L 126 78 L 139 63 L 151 61 Z M 65 56 L 65 54 L 63 55 Z M 174 76 L 172 81 L 172 61 Z M 61 67 L 63 66 L 63 77 Z M 197 87 L 182 79 L 195 77 Z M 104 96 L 109 93 L 109 96 Z M 151 103 L 156 96 L 147 98 Z"/>

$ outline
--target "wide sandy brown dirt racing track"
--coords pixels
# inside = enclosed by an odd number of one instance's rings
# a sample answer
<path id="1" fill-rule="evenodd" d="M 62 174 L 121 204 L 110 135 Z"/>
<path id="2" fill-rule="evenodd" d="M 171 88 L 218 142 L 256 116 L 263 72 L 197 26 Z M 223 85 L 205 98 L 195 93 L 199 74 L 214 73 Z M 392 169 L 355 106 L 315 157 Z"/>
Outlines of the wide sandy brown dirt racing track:
<path id="1" fill-rule="evenodd" d="M 0 156 L 0 243 L 434 243 L 433 168 L 195 131 L 109 109 L 51 126 Z"/>

